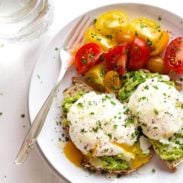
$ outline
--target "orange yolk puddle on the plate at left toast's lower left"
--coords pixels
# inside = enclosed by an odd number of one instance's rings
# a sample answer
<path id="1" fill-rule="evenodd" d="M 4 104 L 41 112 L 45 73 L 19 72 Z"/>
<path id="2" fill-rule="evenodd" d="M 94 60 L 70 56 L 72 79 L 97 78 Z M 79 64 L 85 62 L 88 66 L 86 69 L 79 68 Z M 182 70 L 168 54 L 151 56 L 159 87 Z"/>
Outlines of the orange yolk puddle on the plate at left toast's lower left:
<path id="1" fill-rule="evenodd" d="M 83 154 L 76 148 L 76 146 L 71 142 L 67 142 L 64 147 L 65 156 L 77 167 L 81 167 L 81 161 L 84 158 Z"/>

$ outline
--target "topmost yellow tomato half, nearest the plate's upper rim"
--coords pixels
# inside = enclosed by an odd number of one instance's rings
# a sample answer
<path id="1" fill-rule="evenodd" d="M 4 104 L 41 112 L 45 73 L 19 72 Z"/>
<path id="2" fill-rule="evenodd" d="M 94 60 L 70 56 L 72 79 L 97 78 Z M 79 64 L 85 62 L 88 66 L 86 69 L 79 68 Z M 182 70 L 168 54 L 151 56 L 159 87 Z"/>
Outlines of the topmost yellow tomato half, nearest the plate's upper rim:
<path id="1" fill-rule="evenodd" d="M 110 35 L 128 25 L 128 16 L 120 10 L 107 11 L 97 18 L 95 27 L 103 35 Z"/>

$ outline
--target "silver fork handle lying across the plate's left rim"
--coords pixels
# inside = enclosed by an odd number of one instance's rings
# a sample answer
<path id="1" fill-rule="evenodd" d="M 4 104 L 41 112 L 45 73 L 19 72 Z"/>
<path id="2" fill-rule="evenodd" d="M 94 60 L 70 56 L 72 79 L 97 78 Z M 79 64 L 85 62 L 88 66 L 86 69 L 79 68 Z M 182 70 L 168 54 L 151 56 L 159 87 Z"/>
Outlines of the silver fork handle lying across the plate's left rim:
<path id="1" fill-rule="evenodd" d="M 38 114 L 36 115 L 36 117 L 33 121 L 33 124 L 31 126 L 30 130 L 28 131 L 28 133 L 24 139 L 24 142 L 16 156 L 16 159 L 15 159 L 16 165 L 23 164 L 24 161 L 27 159 L 29 153 L 33 149 L 35 142 L 37 140 L 37 137 L 44 125 L 44 122 L 46 120 L 50 107 L 53 103 L 53 98 L 55 96 L 55 93 L 56 93 L 58 87 L 59 87 L 59 83 L 54 86 L 51 93 L 49 94 L 46 101 L 44 102 L 43 106 L 41 107 Z"/>

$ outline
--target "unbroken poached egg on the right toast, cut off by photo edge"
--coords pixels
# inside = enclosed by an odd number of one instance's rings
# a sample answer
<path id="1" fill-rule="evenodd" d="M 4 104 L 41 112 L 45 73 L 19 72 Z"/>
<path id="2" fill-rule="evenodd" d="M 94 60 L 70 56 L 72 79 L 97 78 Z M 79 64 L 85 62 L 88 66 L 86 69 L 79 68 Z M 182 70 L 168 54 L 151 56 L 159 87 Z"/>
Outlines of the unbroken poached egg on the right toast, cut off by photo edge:
<path id="1" fill-rule="evenodd" d="M 159 141 L 167 140 L 183 127 L 183 96 L 166 80 L 162 82 L 158 77 L 146 80 L 137 87 L 128 103 L 143 133 Z"/>

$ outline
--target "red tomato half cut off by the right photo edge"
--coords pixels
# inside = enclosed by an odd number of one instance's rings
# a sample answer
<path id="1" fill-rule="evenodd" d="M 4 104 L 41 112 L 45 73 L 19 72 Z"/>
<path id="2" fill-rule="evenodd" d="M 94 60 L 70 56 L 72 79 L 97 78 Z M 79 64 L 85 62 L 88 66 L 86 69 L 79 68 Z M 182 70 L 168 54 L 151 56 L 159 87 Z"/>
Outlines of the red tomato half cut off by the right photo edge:
<path id="1" fill-rule="evenodd" d="M 167 71 L 183 73 L 183 37 L 178 37 L 170 42 L 164 57 Z"/>

